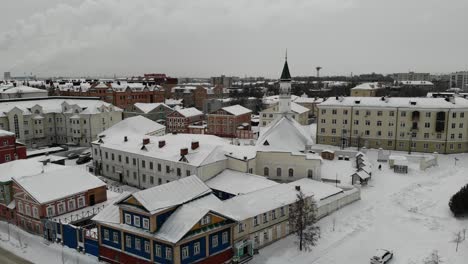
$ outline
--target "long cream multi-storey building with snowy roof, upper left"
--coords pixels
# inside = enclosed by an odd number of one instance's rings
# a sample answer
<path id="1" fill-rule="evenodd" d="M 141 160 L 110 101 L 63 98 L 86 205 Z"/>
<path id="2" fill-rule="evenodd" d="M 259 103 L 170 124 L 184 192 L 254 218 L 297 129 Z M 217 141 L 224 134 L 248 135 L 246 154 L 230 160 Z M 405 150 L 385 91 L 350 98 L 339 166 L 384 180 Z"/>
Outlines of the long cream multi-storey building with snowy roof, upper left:
<path id="1" fill-rule="evenodd" d="M 122 120 L 122 110 L 95 99 L 38 98 L 0 102 L 0 129 L 28 147 L 89 146 L 99 133 Z"/>

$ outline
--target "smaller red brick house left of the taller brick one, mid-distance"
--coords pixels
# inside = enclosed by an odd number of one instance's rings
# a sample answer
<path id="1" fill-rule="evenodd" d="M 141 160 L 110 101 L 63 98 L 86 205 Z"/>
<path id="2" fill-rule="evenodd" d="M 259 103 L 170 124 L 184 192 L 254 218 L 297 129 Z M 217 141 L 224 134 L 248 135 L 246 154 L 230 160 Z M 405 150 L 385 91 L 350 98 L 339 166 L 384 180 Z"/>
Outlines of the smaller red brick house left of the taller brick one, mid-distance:
<path id="1" fill-rule="evenodd" d="M 189 133 L 190 125 L 201 125 L 204 119 L 202 111 L 195 107 L 175 110 L 167 115 L 166 131 L 177 133 Z"/>

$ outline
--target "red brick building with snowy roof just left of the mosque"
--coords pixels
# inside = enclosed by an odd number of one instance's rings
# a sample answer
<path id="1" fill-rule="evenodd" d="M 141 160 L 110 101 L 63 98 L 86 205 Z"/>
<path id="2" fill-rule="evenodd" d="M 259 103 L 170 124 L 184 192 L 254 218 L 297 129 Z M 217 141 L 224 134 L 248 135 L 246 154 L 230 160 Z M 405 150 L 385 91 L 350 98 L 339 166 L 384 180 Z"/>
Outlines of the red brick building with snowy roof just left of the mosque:
<path id="1" fill-rule="evenodd" d="M 208 134 L 220 137 L 239 137 L 239 130 L 250 131 L 252 111 L 241 105 L 220 108 L 207 115 Z M 241 133 L 242 138 L 245 136 Z"/>

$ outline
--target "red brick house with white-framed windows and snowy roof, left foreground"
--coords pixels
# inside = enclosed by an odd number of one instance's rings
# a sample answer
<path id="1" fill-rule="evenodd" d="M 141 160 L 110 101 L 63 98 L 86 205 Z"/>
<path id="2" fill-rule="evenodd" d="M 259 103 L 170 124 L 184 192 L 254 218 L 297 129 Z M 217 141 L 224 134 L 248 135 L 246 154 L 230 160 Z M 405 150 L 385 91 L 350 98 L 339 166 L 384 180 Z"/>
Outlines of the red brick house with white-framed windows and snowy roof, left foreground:
<path id="1" fill-rule="evenodd" d="M 107 200 L 106 184 L 82 168 L 64 167 L 14 177 L 17 225 L 43 235 L 45 218 L 55 218 Z"/>

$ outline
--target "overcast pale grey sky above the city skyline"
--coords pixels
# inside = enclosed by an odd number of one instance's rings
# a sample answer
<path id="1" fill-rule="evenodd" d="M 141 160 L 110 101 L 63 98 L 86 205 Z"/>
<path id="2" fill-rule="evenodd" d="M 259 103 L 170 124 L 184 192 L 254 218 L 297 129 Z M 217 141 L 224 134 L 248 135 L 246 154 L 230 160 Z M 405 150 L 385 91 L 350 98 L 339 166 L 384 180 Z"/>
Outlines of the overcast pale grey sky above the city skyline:
<path id="1" fill-rule="evenodd" d="M 2 0 L 0 72 L 278 77 L 468 70 L 467 0 Z"/>

